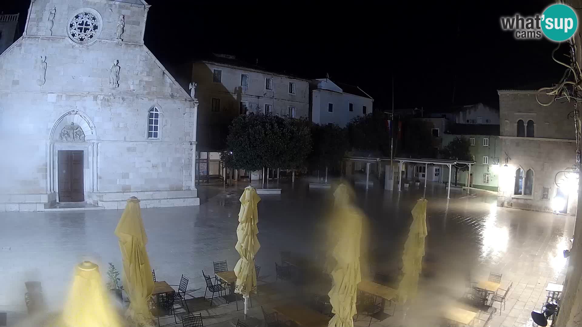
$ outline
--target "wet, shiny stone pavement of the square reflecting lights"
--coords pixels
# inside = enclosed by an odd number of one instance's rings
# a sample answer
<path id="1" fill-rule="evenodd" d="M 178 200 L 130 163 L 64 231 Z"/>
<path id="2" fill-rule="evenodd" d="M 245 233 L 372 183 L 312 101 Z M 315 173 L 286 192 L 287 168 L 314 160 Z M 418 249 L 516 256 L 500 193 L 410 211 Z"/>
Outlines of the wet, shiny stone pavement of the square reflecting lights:
<path id="1" fill-rule="evenodd" d="M 204 325 L 227 326 L 241 311 L 219 298 L 212 307 L 203 301 L 204 273 L 213 275 L 212 262 L 228 261 L 233 269 L 238 201 L 246 183 L 223 189 L 200 186 L 200 207 L 142 209 L 148 234 L 148 254 L 157 280 L 178 284 L 184 274 L 189 280 L 190 311 L 200 311 Z M 321 261 L 326 252 L 327 212 L 332 204 L 329 190 L 308 190 L 297 182 L 281 184 L 282 195 L 261 195 L 259 204 L 261 249 L 256 264 L 261 266 L 258 290 L 250 315 L 262 320 L 276 304 L 301 297 L 301 290 L 275 281 L 274 262 L 281 251 L 294 251 Z M 381 272 L 398 276 L 400 256 L 411 222 L 410 210 L 423 196 L 423 188 L 411 187 L 391 193 L 357 188 L 357 204 L 368 216 L 362 246 L 363 278 Z M 462 306 L 467 280 L 487 280 L 490 272 L 501 273 L 501 288 L 513 283 L 504 310 L 496 312 L 486 326 L 531 326 L 531 310 L 540 310 L 549 282 L 563 282 L 574 217 L 498 208 L 495 194 L 473 191 L 470 196 L 451 191 L 446 200 L 442 185 L 428 184 L 428 237 L 419 294 L 410 307 L 389 305 L 390 317 L 372 319 L 372 326 L 438 326 L 442 310 Z M 73 267 L 83 260 L 100 265 L 107 262 L 122 270 L 118 240 L 113 230 L 121 210 L 65 212 L 2 212 L 0 214 L 0 311 L 9 312 L 9 325 L 26 312 L 24 282 L 40 280 L 45 301 L 58 310 L 65 301 Z M 325 286 L 323 286 L 325 288 Z M 210 293 L 207 294 L 210 296 Z M 303 299 L 305 300 L 305 299 Z M 239 303 L 242 308 L 242 303 Z M 407 310 L 405 310 L 407 308 Z M 184 310 L 177 312 L 178 319 Z M 404 317 L 406 313 L 406 317 Z M 487 319 L 486 314 L 480 318 Z M 162 319 L 163 324 L 173 317 Z M 179 322 L 179 320 L 178 320 Z M 356 326 L 367 326 L 361 318 Z M 26 325 L 26 324 L 25 324 Z M 179 325 L 181 326 L 180 322 Z M 477 321 L 475 326 L 483 326 Z"/>

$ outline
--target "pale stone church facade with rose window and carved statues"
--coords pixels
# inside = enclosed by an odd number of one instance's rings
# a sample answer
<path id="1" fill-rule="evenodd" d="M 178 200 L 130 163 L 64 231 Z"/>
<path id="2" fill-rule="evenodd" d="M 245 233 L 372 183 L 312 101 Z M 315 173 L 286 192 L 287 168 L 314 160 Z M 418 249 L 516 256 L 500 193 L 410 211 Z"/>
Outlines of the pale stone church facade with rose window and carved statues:
<path id="1" fill-rule="evenodd" d="M 141 0 L 33 0 L 0 55 L 0 211 L 198 205 L 197 101 L 145 47 Z"/>

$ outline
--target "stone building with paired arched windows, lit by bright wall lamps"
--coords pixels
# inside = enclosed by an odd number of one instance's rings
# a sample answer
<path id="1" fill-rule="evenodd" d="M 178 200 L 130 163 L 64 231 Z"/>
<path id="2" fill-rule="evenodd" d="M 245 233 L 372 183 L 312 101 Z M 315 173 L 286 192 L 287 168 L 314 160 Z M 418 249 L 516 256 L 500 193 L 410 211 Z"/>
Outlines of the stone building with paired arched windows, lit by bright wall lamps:
<path id="1" fill-rule="evenodd" d="M 501 90 L 501 176 L 497 204 L 501 207 L 552 212 L 554 198 L 563 198 L 556 211 L 576 213 L 576 140 L 572 102 L 550 102 L 536 91 Z"/>

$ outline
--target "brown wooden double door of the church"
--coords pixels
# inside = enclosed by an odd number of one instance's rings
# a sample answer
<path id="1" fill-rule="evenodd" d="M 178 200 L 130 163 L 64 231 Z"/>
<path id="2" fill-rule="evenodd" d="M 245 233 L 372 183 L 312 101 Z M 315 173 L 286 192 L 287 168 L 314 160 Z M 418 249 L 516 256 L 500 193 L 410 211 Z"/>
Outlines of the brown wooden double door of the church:
<path id="1" fill-rule="evenodd" d="M 83 150 L 59 150 L 59 202 L 85 201 L 83 194 Z"/>

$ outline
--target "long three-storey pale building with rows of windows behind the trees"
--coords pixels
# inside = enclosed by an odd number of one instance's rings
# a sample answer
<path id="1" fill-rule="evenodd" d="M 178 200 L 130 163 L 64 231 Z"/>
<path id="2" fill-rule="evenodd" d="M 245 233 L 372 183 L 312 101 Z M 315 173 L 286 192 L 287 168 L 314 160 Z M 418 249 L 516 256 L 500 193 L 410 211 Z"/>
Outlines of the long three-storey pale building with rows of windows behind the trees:
<path id="1" fill-rule="evenodd" d="M 192 64 L 200 150 L 223 150 L 228 125 L 249 112 L 308 118 L 309 81 L 250 67 L 232 56 Z"/>

